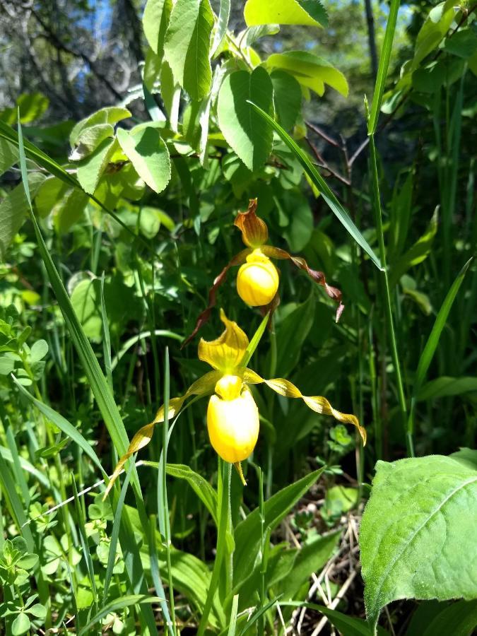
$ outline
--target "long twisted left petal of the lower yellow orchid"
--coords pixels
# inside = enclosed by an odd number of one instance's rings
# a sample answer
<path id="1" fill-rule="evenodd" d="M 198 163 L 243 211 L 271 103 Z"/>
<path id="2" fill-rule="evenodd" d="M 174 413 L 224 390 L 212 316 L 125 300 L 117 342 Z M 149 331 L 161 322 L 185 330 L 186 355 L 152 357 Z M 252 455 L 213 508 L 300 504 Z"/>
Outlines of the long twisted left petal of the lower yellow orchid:
<path id="1" fill-rule="evenodd" d="M 184 401 L 186 401 L 188 397 L 192 395 L 204 396 L 204 395 L 209 395 L 213 393 L 213 389 L 216 386 L 216 383 L 218 382 L 220 377 L 221 377 L 220 372 L 210 371 L 206 373 L 206 375 L 199 377 L 199 379 L 197 379 L 193 384 L 191 384 L 191 386 L 189 387 L 189 389 L 187 389 L 184 395 L 179 396 L 177 398 L 170 399 L 168 419 L 173 418 L 175 415 L 177 415 L 177 413 L 179 413 L 179 411 L 182 408 L 182 405 L 184 404 Z M 124 455 L 121 457 L 121 459 L 119 459 L 119 461 L 117 462 L 117 466 L 114 469 L 114 473 L 112 473 L 110 482 L 107 484 L 105 494 L 102 497 L 103 501 L 106 499 L 107 495 L 110 493 L 110 490 L 112 488 L 112 485 L 114 484 L 114 481 L 117 480 L 119 474 L 121 473 L 124 467 L 124 464 L 126 464 L 126 461 L 129 459 L 129 457 L 137 453 L 139 450 L 141 450 L 141 448 L 144 448 L 145 446 L 148 445 L 149 442 L 151 442 L 151 437 L 153 437 L 154 427 L 156 424 L 160 424 L 161 422 L 164 421 L 164 415 L 165 415 L 165 411 L 164 411 L 164 405 L 163 405 L 160 407 L 159 411 L 155 414 L 154 420 L 150 424 L 146 424 L 146 426 L 143 426 L 143 428 L 140 428 L 139 431 L 136 432 L 136 434 L 131 440 L 131 443 L 129 444 L 128 449 L 126 450 Z"/>

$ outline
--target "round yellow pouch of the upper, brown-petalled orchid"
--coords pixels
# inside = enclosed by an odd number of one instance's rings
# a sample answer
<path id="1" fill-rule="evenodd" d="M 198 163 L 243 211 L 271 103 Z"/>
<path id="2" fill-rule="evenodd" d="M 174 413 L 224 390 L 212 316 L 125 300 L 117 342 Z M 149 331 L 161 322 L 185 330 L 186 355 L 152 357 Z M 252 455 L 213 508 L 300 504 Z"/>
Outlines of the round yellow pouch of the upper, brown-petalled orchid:
<path id="1" fill-rule="evenodd" d="M 264 307 L 275 297 L 279 282 L 276 266 L 254 249 L 237 273 L 237 293 L 250 307 Z"/>

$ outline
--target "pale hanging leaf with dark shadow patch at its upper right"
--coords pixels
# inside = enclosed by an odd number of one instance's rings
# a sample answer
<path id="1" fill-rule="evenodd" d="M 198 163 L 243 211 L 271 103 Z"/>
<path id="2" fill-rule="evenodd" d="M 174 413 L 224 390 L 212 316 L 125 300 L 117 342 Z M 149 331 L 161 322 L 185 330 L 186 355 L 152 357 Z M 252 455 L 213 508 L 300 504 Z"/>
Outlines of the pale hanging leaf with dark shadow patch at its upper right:
<path id="1" fill-rule="evenodd" d="M 154 192 L 163 192 L 170 181 L 170 158 L 158 130 L 148 126 L 134 134 L 119 128 L 117 140 L 141 179 Z"/>

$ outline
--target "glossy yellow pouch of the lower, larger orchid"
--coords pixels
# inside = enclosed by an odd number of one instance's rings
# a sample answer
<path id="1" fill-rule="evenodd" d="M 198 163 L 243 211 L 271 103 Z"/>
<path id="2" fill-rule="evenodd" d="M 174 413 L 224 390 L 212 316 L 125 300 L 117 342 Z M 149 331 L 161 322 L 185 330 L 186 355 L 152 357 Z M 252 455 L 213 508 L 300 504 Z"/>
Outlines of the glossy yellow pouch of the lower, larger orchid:
<path id="1" fill-rule="evenodd" d="M 259 437 L 259 410 L 249 389 L 234 400 L 211 396 L 207 409 L 208 437 L 216 453 L 237 464 L 247 459 Z"/>

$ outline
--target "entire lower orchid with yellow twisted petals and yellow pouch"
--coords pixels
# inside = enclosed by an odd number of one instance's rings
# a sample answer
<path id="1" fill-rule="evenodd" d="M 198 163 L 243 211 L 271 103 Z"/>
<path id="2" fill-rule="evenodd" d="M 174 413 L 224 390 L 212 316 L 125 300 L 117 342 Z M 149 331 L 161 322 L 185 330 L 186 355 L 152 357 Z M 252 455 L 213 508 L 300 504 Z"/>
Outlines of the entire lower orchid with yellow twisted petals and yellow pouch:
<path id="1" fill-rule="evenodd" d="M 196 380 L 183 396 L 170 400 L 168 419 L 179 413 L 184 401 L 190 396 L 211 395 L 207 409 L 207 428 L 211 444 L 222 459 L 235 464 L 244 484 L 240 462 L 252 454 L 259 435 L 259 411 L 248 388 L 249 384 L 264 383 L 282 396 L 302 399 L 316 413 L 331 415 L 340 422 L 352 424 L 358 429 L 363 444 L 366 443 L 366 431 L 355 416 L 336 411 L 322 396 L 303 395 L 300 389 L 287 379 L 264 379 L 252 369 L 245 367 L 243 360 L 249 346 L 247 335 L 236 322 L 225 316 L 223 310 L 220 310 L 220 319 L 225 324 L 223 334 L 211 342 L 202 338 L 199 343 L 199 359 L 211 365 L 214 370 Z M 153 422 L 136 432 L 127 452 L 119 459 L 114 469 L 105 497 L 129 457 L 151 441 L 155 425 L 164 419 L 164 406 L 161 406 Z"/>

